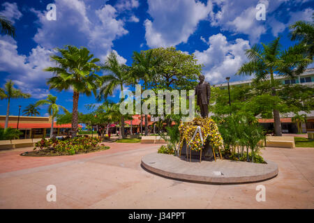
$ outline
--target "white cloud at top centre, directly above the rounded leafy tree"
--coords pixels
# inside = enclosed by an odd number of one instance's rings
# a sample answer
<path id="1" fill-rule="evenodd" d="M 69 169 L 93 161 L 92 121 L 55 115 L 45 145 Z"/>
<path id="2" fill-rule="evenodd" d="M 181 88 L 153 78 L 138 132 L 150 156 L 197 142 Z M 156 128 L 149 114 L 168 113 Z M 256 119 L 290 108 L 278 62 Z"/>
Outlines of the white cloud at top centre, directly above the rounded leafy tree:
<path id="1" fill-rule="evenodd" d="M 149 0 L 148 4 L 152 21 L 145 20 L 144 26 L 149 47 L 186 43 L 200 20 L 211 12 L 210 1 L 205 5 L 195 0 Z"/>

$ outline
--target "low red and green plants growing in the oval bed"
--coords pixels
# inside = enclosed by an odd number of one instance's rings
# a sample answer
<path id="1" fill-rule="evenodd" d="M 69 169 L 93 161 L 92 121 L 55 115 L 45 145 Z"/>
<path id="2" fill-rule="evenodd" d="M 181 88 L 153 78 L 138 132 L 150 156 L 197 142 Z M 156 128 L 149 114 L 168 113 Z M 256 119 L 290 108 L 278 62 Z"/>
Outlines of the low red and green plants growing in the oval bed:
<path id="1" fill-rule="evenodd" d="M 96 137 L 77 137 L 66 140 L 59 139 L 41 139 L 35 144 L 34 150 L 50 149 L 57 152 L 67 152 L 68 154 L 86 153 L 94 150 L 100 143 L 101 139 Z"/>

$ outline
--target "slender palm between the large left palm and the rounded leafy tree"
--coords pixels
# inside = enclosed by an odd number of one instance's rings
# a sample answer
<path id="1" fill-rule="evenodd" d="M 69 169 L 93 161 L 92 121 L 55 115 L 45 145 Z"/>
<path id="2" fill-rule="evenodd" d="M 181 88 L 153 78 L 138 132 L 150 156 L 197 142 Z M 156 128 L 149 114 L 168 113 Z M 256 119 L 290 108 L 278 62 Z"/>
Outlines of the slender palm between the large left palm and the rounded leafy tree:
<path id="1" fill-rule="evenodd" d="M 114 52 L 111 52 L 110 55 L 107 56 L 107 60 L 100 66 L 100 69 L 107 72 L 107 75 L 101 77 L 103 84 L 100 87 L 98 100 L 101 100 L 101 98 L 106 99 L 108 95 L 112 95 L 114 90 L 119 87 L 121 92 L 124 91 L 124 84 L 130 84 L 132 82 L 130 68 L 124 64 L 120 64 Z M 123 100 L 124 94 L 122 94 L 120 102 Z M 120 125 L 120 137 L 124 139 L 124 115 L 120 117 Z"/>

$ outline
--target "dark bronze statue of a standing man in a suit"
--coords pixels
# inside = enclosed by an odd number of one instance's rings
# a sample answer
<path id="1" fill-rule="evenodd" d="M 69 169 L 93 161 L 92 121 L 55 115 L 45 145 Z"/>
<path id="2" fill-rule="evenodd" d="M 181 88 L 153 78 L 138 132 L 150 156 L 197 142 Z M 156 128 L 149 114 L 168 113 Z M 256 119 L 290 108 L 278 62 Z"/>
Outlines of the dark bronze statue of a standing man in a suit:
<path id="1" fill-rule="evenodd" d="M 211 98 L 211 86 L 204 82 L 204 75 L 200 75 L 200 82 L 195 87 L 195 95 L 197 97 L 197 105 L 200 106 L 201 116 L 208 117 L 208 105 Z"/>

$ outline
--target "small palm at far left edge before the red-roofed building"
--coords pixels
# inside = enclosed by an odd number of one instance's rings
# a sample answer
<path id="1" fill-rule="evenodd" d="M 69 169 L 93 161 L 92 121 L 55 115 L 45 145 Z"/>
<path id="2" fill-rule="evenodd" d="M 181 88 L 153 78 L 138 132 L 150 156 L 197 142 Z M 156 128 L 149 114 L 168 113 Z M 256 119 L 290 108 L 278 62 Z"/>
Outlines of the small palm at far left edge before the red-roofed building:
<path id="1" fill-rule="evenodd" d="M 9 80 L 4 85 L 3 89 L 0 89 L 0 99 L 8 99 L 8 107 L 6 109 L 6 124 L 4 125 L 4 129 L 6 130 L 8 128 L 8 116 L 10 113 L 10 100 L 13 98 L 31 98 L 31 95 L 29 93 L 23 93 L 19 89 L 15 89 L 14 83 Z"/>

